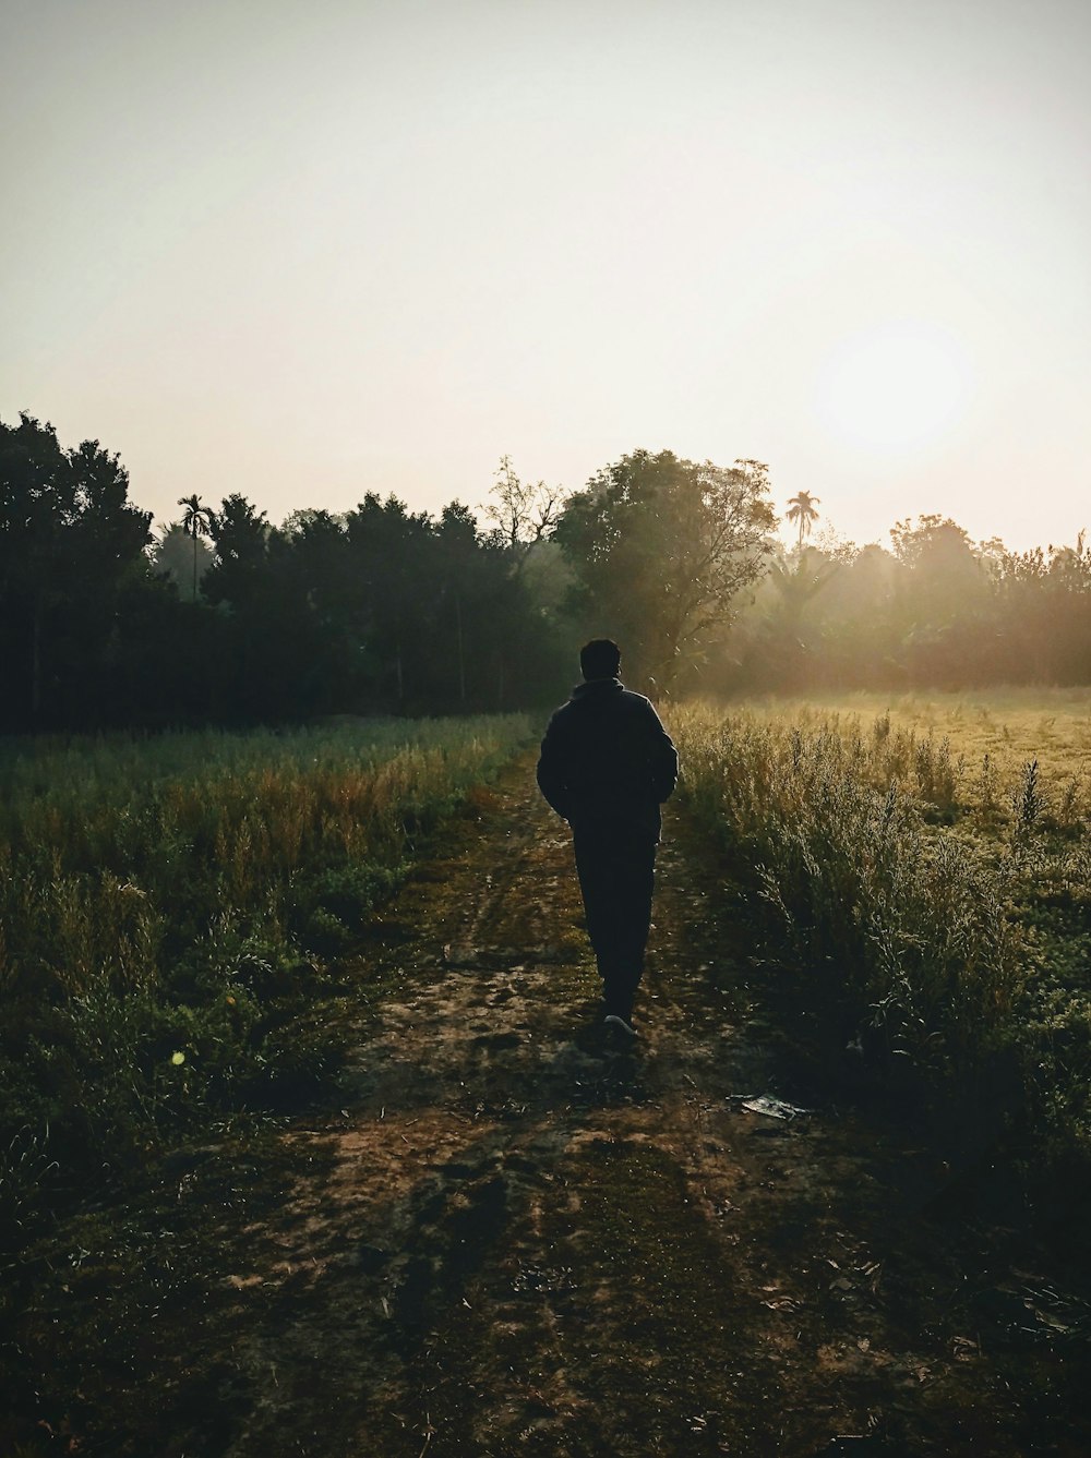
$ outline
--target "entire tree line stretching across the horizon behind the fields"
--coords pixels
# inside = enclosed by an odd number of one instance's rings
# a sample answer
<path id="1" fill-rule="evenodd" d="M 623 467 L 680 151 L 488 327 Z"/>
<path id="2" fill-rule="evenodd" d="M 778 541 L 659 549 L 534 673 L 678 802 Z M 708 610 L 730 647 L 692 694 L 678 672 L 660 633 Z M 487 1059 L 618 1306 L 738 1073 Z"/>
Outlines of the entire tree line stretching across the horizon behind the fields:
<path id="1" fill-rule="evenodd" d="M 634 451 L 566 493 L 503 458 L 478 513 L 193 494 L 158 535 L 128 486 L 98 442 L 0 421 L 7 732 L 537 709 L 592 634 L 655 695 L 1091 682 L 1082 537 L 1017 554 L 922 516 L 811 545 L 801 491 L 789 550 L 758 461 Z"/>

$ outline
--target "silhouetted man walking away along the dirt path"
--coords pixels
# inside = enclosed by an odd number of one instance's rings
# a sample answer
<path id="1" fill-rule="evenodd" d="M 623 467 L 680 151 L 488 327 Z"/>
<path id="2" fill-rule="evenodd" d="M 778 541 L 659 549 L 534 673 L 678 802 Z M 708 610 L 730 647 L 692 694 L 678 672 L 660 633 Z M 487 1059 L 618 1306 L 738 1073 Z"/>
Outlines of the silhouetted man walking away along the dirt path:
<path id="1" fill-rule="evenodd" d="M 678 781 L 678 754 L 651 703 L 618 679 L 617 643 L 594 639 L 581 649 L 579 666 L 585 681 L 553 714 L 541 742 L 538 787 L 572 825 L 604 1024 L 632 1038 L 652 920 L 659 805 Z"/>

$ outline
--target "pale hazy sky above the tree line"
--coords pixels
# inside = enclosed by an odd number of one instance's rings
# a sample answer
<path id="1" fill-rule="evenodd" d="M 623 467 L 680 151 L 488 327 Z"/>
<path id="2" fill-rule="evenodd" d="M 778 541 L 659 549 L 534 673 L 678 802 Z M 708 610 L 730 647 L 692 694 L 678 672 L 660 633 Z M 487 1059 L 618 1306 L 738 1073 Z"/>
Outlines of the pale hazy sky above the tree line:
<path id="1" fill-rule="evenodd" d="M 570 490 L 1091 526 L 1085 0 L 3 0 L 0 418 L 158 523 Z"/>

